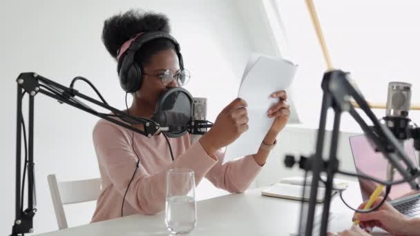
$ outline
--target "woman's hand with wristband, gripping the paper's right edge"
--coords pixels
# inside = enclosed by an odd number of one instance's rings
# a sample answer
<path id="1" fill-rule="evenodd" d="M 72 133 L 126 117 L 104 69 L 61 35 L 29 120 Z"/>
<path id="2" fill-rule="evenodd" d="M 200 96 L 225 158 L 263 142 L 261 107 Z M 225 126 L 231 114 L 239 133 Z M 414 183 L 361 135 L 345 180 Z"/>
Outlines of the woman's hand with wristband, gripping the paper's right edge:
<path id="1" fill-rule="evenodd" d="M 290 106 L 287 105 L 287 92 L 280 90 L 271 94 L 271 97 L 278 97 L 278 102 L 269 108 L 267 115 L 268 117 L 276 117 L 269 132 L 280 132 L 287 124 L 287 120 L 290 116 Z"/>

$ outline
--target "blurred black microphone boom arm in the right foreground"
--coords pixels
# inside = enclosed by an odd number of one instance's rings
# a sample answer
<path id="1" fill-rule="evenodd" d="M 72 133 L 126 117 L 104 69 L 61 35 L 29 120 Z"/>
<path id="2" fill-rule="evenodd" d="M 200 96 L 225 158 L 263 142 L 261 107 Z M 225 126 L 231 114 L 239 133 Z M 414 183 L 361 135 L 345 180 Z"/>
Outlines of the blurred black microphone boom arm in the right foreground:
<path id="1" fill-rule="evenodd" d="M 342 70 L 330 70 L 325 72 L 323 75 L 323 81 L 321 83 L 321 87 L 323 89 L 323 100 L 316 137 L 316 153 L 310 157 L 302 157 L 300 161 L 298 161 L 300 168 L 303 168 L 306 172 L 308 170 L 312 171 L 312 181 L 310 184 L 308 203 L 309 206 L 305 206 L 305 202 L 302 202 L 300 209 L 299 235 L 312 235 L 312 230 L 314 228 L 316 196 L 319 181 L 321 181 L 321 173 L 323 172 L 327 174 L 327 179 L 325 181 L 324 205 L 319 235 L 327 235 L 327 224 L 332 197 L 332 183 L 334 174 L 338 172 L 338 159 L 336 154 L 338 149 L 341 114 L 343 112 L 350 113 L 359 126 L 361 126 L 367 138 L 374 144 L 378 151 L 381 151 L 381 153 L 385 155 L 388 161 L 390 161 L 390 164 L 397 169 L 404 179 L 419 174 L 419 170 L 414 164 L 412 164 L 412 161 L 403 150 L 403 147 L 397 138 L 394 137 L 388 127 L 381 124 L 381 122 L 376 119 L 376 116 L 363 98 L 363 95 L 361 95 L 361 93 L 352 86 L 350 81 L 347 79 L 347 76 L 348 73 L 343 72 Z M 372 121 L 372 127 L 370 127 L 354 109 L 352 99 L 354 99 L 354 101 L 360 106 L 361 110 L 365 112 L 365 115 L 367 115 L 370 121 Z M 324 160 L 323 149 L 325 141 L 325 124 L 327 121 L 327 111 L 330 108 L 334 110 L 334 124 L 331 136 L 330 153 L 327 159 Z M 420 139 L 418 128 L 415 130 L 416 132 L 412 130 L 412 136 L 414 137 L 414 134 L 417 134 L 418 139 Z M 419 143 L 420 141 L 417 142 Z M 288 167 L 292 167 L 296 161 L 294 161 L 294 157 L 292 157 L 292 159 L 289 157 L 291 156 L 286 157 L 285 164 Z M 401 165 L 400 160 L 403 161 L 406 167 Z M 407 168 L 407 170 L 405 168 Z M 415 179 L 409 181 L 408 184 L 410 184 L 413 189 L 419 190 L 419 184 L 415 182 Z M 303 197 L 305 196 L 304 190 Z"/>

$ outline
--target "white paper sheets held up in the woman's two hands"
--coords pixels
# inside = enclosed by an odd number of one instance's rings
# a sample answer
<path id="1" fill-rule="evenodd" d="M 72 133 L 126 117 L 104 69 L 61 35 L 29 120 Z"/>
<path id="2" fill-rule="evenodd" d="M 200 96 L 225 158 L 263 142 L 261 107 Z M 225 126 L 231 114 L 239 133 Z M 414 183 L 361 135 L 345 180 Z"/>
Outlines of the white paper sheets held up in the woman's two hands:
<path id="1" fill-rule="evenodd" d="M 245 99 L 248 104 L 249 129 L 227 146 L 223 163 L 258 152 L 274 120 L 267 117 L 267 111 L 278 98 L 270 95 L 289 88 L 296 70 L 296 65 L 281 57 L 251 55 L 238 92 L 238 97 Z"/>

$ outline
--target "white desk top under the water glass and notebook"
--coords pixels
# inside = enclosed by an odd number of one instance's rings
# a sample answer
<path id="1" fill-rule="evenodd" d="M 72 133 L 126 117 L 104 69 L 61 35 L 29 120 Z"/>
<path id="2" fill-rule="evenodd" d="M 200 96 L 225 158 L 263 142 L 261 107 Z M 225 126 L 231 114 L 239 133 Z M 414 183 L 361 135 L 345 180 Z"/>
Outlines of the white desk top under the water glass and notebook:
<path id="1" fill-rule="evenodd" d="M 197 226 L 189 235 L 289 235 L 296 233 L 300 213 L 300 202 L 265 197 L 260 188 L 243 194 L 226 195 L 198 201 Z M 350 182 L 343 193 L 349 203 L 361 204 L 359 184 Z M 322 207 L 322 204 L 318 206 Z M 320 208 L 321 209 L 321 208 Z M 346 208 L 336 195 L 331 211 L 345 215 L 342 222 L 350 228 L 352 210 Z M 348 222 L 348 224 L 347 224 Z M 68 235 L 169 235 L 164 225 L 164 211 L 158 215 L 131 215 L 85 226 L 58 230 L 44 236 Z"/>

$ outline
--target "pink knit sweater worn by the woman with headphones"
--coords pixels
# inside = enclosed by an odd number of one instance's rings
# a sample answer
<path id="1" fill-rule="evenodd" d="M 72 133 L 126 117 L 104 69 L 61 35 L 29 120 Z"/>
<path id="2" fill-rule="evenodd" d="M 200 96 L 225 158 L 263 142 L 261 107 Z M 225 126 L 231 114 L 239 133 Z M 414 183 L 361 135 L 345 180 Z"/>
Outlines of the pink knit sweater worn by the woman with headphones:
<path id="1" fill-rule="evenodd" d="M 102 190 L 92 222 L 121 217 L 122 197 L 135 170 L 137 157 L 133 152 L 132 131 L 101 119 L 93 130 L 93 143 L 99 163 Z M 256 177 L 261 167 L 251 155 L 222 165 L 223 153 L 215 161 L 200 142 L 191 145 L 190 135 L 169 138 L 175 161 L 163 135 L 151 138 L 134 133 L 134 148 L 140 157 L 124 203 L 124 215 L 153 215 L 164 210 L 166 171 L 171 168 L 191 168 L 195 184 L 207 177 L 218 188 L 242 193 Z"/>

